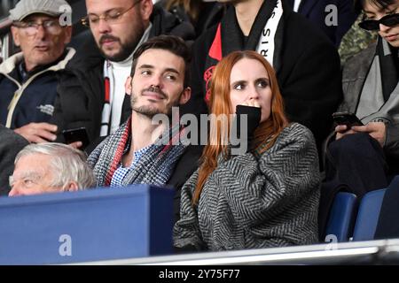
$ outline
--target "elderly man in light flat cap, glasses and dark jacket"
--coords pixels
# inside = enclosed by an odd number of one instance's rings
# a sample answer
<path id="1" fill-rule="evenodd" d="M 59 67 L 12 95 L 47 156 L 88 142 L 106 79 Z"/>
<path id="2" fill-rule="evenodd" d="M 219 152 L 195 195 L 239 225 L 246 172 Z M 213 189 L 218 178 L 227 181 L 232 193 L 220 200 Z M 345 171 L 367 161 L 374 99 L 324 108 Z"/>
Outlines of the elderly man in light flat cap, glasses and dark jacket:
<path id="1" fill-rule="evenodd" d="M 0 123 L 29 142 L 51 142 L 57 126 L 54 111 L 59 73 L 74 56 L 66 49 L 72 27 L 64 0 L 21 0 L 10 11 L 12 38 L 21 52 L 0 65 Z M 70 15 L 69 15 L 70 18 Z"/>

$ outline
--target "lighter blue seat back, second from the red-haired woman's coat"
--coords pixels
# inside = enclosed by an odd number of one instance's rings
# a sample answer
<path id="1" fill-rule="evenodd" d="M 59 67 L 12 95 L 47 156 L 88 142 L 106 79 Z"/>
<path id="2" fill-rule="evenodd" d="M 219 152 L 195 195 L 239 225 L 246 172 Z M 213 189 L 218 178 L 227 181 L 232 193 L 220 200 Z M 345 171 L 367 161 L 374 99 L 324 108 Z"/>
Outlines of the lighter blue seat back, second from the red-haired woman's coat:
<path id="1" fill-rule="evenodd" d="M 370 241 L 374 239 L 375 229 L 379 222 L 379 210 L 386 188 L 375 190 L 364 195 L 357 213 L 353 241 Z"/>

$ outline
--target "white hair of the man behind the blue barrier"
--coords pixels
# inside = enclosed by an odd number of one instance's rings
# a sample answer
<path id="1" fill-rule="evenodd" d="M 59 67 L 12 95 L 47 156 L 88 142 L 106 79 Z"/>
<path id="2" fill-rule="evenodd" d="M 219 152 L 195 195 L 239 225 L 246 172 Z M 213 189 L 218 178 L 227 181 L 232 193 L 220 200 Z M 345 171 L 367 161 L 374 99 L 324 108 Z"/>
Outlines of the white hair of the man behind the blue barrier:
<path id="1" fill-rule="evenodd" d="M 79 189 L 94 187 L 96 184 L 94 173 L 86 163 L 86 155 L 79 149 L 57 142 L 31 143 L 20 150 L 15 157 L 15 164 L 21 157 L 32 154 L 51 157 L 50 166 L 54 175 L 52 187 L 65 187 L 71 181 L 76 182 Z"/>

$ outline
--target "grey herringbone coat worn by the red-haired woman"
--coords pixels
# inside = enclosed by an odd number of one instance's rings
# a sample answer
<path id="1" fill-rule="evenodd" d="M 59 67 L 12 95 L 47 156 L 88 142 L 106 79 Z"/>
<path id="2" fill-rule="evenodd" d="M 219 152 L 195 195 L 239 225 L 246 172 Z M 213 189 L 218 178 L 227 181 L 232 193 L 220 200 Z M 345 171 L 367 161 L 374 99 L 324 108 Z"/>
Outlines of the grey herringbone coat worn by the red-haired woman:
<path id="1" fill-rule="evenodd" d="M 305 126 L 287 126 L 259 158 L 220 158 L 193 207 L 197 178 L 195 172 L 182 189 L 176 247 L 256 249 L 318 241 L 318 157 Z"/>

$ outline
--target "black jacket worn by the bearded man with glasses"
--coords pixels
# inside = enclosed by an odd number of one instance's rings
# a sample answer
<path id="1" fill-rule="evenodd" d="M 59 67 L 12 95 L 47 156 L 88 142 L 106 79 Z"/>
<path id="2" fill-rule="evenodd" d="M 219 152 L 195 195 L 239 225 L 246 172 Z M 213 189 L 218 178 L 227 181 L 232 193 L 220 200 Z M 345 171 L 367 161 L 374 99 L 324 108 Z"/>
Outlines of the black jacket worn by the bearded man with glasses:
<path id="1" fill-rule="evenodd" d="M 160 34 L 174 34 L 186 41 L 193 39 L 193 27 L 181 22 L 168 11 L 154 7 L 151 16 L 153 27 L 150 37 Z M 94 38 L 90 34 L 87 42 L 66 65 L 61 76 L 58 96 L 51 123 L 59 126 L 58 142 L 64 142 L 62 130 L 86 127 L 90 142 L 96 142 L 101 127 L 101 113 L 104 105 L 104 75 L 102 57 Z M 131 114 L 129 96 L 123 102 L 121 122 Z"/>

